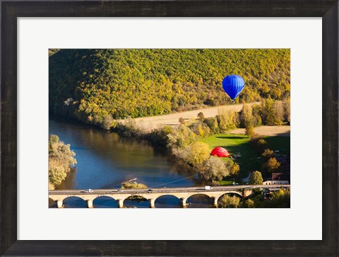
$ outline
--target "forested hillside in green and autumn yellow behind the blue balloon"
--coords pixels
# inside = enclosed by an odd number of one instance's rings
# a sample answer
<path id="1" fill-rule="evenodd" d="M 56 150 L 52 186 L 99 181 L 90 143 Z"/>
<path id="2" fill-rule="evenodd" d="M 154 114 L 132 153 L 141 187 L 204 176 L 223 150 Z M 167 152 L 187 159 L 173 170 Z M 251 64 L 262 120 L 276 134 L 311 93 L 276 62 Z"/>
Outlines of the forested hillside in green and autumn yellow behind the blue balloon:
<path id="1" fill-rule="evenodd" d="M 239 102 L 289 98 L 290 50 L 59 50 L 49 57 L 49 108 L 102 124 L 227 104 L 229 74 L 245 81 Z"/>

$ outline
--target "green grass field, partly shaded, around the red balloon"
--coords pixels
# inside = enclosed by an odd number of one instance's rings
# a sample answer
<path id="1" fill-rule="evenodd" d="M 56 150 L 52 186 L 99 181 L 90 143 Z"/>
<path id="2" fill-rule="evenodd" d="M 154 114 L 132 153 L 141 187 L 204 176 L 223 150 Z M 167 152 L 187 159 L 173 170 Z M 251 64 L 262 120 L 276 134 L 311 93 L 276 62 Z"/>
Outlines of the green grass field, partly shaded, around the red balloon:
<path id="1" fill-rule="evenodd" d="M 290 137 L 265 137 L 265 140 L 268 148 L 290 155 Z M 251 171 L 261 171 L 263 165 L 261 154 L 249 144 L 249 137 L 246 135 L 219 134 L 205 137 L 200 141 L 208 144 L 210 150 L 214 147 L 223 147 L 230 154 L 240 154 L 234 161 L 240 166 L 240 177 L 242 178 L 246 178 Z M 227 161 L 228 158 L 222 158 L 222 160 Z"/>

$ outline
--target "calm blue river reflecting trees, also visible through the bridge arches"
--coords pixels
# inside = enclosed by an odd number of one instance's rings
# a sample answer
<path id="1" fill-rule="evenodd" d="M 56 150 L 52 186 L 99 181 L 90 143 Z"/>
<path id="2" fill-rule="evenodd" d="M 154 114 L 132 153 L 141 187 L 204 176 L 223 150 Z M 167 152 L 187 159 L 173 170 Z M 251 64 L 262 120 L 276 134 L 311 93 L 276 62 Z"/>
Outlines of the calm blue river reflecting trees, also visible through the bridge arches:
<path id="1" fill-rule="evenodd" d="M 49 135 L 57 135 L 76 152 L 76 169 L 57 189 L 120 188 L 121 183 L 136 178 L 148 188 L 204 185 L 186 164 L 178 164 L 165 147 L 155 147 L 145 140 L 120 137 L 95 127 L 61 118 L 49 119 Z M 188 207 L 211 207 L 205 195 L 191 197 Z M 117 207 L 112 198 L 97 198 L 94 207 Z M 149 207 L 148 201 L 125 200 L 126 207 Z M 55 207 L 50 201 L 49 207 Z M 67 198 L 64 207 L 86 207 L 79 198 Z M 155 207 L 181 207 L 179 199 L 163 196 Z"/>

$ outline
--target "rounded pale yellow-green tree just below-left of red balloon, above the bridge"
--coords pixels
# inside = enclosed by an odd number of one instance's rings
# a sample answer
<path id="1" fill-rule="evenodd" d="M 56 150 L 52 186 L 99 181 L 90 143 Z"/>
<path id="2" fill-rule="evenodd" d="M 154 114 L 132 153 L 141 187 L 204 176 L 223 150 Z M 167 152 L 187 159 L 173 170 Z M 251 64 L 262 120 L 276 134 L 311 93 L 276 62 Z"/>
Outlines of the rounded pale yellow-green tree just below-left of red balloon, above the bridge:
<path id="1" fill-rule="evenodd" d="M 206 181 L 221 181 L 223 177 L 229 175 L 225 164 L 218 157 L 210 156 L 203 162 L 199 170 L 200 176 Z"/>

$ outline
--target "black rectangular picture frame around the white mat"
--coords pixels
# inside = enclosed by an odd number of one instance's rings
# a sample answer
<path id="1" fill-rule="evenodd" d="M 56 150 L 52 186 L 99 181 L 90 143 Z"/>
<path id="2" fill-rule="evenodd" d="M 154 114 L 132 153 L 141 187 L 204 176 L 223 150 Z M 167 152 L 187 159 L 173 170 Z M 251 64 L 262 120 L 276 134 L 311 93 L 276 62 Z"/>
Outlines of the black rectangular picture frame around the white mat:
<path id="1" fill-rule="evenodd" d="M 319 241 L 17 240 L 18 17 L 322 17 L 322 199 Z M 310 53 L 311 55 L 311 53 Z M 311 74 L 310 74 L 311 76 Z M 338 0 L 1 0 L 1 249 L 4 256 L 339 256 Z M 305 193 L 305 197 L 307 194 Z M 286 229 L 288 229 L 288 224 Z M 311 229 L 311 228 L 310 228 Z M 253 232 L 252 232 L 253 233 Z"/>

